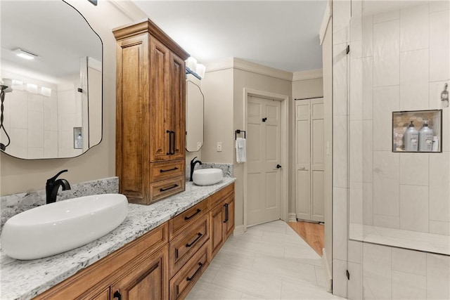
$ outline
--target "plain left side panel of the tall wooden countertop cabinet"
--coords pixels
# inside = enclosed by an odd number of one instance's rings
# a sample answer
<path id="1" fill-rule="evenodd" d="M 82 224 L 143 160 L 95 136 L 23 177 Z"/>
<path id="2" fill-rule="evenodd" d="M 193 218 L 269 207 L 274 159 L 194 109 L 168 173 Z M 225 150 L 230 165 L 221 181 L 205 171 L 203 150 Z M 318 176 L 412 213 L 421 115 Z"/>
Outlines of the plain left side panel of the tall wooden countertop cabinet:
<path id="1" fill-rule="evenodd" d="M 148 186 L 148 64 L 148 34 L 117 42 L 116 173 L 134 203 Z"/>

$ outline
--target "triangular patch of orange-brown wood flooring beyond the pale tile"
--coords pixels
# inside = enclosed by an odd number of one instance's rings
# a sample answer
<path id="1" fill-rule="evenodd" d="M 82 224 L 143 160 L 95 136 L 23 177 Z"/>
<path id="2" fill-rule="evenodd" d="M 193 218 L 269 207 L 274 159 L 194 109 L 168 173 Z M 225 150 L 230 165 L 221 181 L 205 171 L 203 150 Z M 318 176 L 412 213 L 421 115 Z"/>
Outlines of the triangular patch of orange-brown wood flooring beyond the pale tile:
<path id="1" fill-rule="evenodd" d="M 322 249 L 325 246 L 325 232 L 323 224 L 310 223 L 304 221 L 288 222 L 290 228 L 302 237 L 302 239 L 322 256 Z"/>

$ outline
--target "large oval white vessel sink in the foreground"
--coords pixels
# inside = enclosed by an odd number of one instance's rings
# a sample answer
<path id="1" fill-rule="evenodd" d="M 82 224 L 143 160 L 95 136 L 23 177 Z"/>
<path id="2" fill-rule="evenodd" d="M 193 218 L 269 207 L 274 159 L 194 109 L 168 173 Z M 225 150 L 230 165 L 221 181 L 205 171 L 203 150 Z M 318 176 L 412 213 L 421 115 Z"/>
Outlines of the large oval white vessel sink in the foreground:
<path id="1" fill-rule="evenodd" d="M 127 197 L 104 194 L 35 207 L 6 221 L 1 249 L 13 259 L 40 259 L 97 240 L 128 214 Z"/>

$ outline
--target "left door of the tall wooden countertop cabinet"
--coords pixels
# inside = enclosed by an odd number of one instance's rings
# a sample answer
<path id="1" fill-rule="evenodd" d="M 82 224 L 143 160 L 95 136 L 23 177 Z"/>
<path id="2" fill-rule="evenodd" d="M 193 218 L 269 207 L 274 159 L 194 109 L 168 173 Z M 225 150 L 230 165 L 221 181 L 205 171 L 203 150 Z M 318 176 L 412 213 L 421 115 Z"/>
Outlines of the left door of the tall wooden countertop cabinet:
<path id="1" fill-rule="evenodd" d="M 167 160 L 171 152 L 172 103 L 170 91 L 170 51 L 150 37 L 150 162 Z"/>

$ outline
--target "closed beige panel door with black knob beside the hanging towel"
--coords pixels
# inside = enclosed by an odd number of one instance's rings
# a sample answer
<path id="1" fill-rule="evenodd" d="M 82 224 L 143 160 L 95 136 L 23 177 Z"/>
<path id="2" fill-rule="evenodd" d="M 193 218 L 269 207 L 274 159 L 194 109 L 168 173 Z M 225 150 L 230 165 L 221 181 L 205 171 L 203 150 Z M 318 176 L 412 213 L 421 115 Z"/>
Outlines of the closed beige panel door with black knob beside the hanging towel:
<path id="1" fill-rule="evenodd" d="M 247 226 L 280 219 L 281 102 L 249 96 Z"/>

